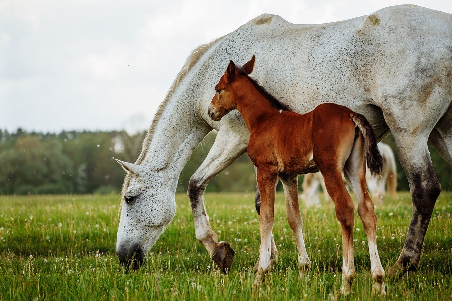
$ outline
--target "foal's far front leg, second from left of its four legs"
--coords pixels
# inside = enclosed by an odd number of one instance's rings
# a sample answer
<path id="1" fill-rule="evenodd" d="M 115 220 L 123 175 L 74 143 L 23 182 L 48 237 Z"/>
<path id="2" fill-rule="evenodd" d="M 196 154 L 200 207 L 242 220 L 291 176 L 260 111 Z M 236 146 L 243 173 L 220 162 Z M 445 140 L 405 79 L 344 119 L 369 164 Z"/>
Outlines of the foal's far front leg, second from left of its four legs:
<path id="1" fill-rule="evenodd" d="M 298 250 L 299 276 L 302 277 L 311 266 L 306 246 L 303 238 L 303 221 L 301 219 L 300 208 L 298 207 L 298 176 L 280 178 L 283 183 L 284 194 L 286 196 L 286 216 L 290 228 L 295 235 Z"/>

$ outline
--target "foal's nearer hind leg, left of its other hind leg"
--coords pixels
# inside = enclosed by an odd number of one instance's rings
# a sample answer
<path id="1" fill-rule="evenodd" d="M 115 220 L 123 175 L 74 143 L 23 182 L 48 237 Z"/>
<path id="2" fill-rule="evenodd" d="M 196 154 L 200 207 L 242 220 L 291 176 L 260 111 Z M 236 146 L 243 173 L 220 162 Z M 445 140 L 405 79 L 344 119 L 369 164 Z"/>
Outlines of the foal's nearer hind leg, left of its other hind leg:
<path id="1" fill-rule="evenodd" d="M 340 169 L 335 164 L 317 162 L 325 179 L 326 190 L 334 201 L 336 218 L 342 229 L 342 286 L 341 293 L 348 294 L 355 276 L 353 261 L 353 214 L 355 205 L 342 181 Z"/>

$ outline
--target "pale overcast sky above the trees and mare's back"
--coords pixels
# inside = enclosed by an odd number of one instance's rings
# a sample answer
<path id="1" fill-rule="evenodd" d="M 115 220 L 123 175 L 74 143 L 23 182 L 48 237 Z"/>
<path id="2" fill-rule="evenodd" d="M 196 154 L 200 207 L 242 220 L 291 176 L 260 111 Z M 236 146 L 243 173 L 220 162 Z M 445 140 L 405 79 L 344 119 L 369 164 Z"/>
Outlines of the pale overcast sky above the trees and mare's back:
<path id="1" fill-rule="evenodd" d="M 314 24 L 400 3 L 0 0 L 0 129 L 145 129 L 194 48 L 262 13 Z"/>

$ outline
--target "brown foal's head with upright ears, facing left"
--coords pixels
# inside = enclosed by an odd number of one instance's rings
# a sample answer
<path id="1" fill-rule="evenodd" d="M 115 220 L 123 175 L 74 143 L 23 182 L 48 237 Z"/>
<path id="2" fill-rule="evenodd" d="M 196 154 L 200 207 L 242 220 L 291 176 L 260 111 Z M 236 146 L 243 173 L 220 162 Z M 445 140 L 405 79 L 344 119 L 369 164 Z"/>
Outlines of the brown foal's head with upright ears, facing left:
<path id="1" fill-rule="evenodd" d="M 207 113 L 214 121 L 219 121 L 230 111 L 236 109 L 236 88 L 240 79 L 245 79 L 253 72 L 254 55 L 242 68 L 237 67 L 233 61 L 229 62 L 226 72 L 221 76 L 220 81 L 215 86 L 216 94 L 213 96 Z"/>

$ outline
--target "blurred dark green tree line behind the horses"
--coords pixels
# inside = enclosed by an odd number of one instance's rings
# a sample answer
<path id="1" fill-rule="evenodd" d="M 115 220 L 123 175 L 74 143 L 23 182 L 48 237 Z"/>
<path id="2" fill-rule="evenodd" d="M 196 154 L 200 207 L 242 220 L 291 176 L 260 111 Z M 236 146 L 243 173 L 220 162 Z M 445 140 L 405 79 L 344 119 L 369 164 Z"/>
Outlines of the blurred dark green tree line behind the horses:
<path id="1" fill-rule="evenodd" d="M 0 194 L 119 193 L 125 174 L 113 159 L 135 162 L 144 136 L 145 132 L 131 135 L 125 131 L 55 134 L 0 130 Z M 180 175 L 177 191 L 186 191 L 191 175 L 207 156 L 215 137 L 216 132 L 211 132 L 194 150 Z M 395 150 L 391 135 L 383 142 Z M 452 166 L 433 147 L 430 152 L 442 189 L 451 190 Z M 408 181 L 397 152 L 395 156 L 398 190 L 407 191 Z M 216 176 L 207 191 L 254 193 L 254 179 L 253 164 L 244 154 Z"/>

